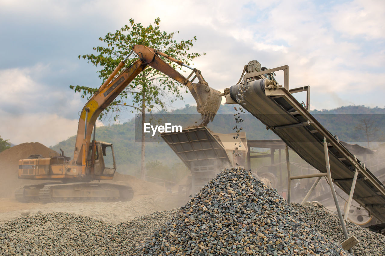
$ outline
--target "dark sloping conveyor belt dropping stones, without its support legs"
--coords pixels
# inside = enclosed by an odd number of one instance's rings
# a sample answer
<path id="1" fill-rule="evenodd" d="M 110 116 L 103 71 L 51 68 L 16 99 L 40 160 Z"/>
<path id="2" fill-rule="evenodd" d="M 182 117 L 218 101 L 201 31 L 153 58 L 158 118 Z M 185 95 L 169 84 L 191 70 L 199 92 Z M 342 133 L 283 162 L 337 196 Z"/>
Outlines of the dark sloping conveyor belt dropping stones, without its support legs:
<path id="1" fill-rule="evenodd" d="M 347 194 L 354 170 L 358 179 L 353 199 L 385 222 L 385 186 L 327 131 L 285 88 L 265 88 L 264 80 L 250 81 L 243 91 L 244 109 L 276 133 L 301 158 L 322 173 L 326 172 L 323 138 L 328 142 L 331 177 Z M 240 100 L 240 85 L 230 88 L 234 101 Z M 347 180 L 346 180 L 347 179 Z"/>

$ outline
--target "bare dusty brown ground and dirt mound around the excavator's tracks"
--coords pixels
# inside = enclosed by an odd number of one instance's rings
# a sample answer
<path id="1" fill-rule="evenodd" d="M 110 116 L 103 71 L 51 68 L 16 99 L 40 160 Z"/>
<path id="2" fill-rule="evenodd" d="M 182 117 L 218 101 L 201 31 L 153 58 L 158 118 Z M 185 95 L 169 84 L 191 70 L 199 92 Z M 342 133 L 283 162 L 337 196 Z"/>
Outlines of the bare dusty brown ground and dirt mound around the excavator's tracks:
<path id="1" fill-rule="evenodd" d="M 187 201 L 186 192 L 178 192 L 179 185 L 187 180 L 185 177 L 182 178 L 179 183 L 172 183 L 172 186 L 170 186 L 164 182 L 144 181 L 131 175 L 115 172 L 113 180 L 102 182 L 131 186 L 134 190 L 134 198 L 132 201 L 60 202 L 48 204 L 18 202 L 14 196 L 17 188 L 25 185 L 50 182 L 47 180 L 18 179 L 19 160 L 35 154 L 48 158 L 50 152 L 54 151 L 35 142 L 13 146 L 0 153 L 0 223 L 22 215 L 49 212 L 75 213 L 105 222 L 120 223 L 131 220 L 136 216 L 153 213 L 154 211 L 176 208 L 184 205 Z M 137 170 L 139 170 L 139 168 Z M 164 178 L 164 180 L 166 180 L 166 178 Z"/>

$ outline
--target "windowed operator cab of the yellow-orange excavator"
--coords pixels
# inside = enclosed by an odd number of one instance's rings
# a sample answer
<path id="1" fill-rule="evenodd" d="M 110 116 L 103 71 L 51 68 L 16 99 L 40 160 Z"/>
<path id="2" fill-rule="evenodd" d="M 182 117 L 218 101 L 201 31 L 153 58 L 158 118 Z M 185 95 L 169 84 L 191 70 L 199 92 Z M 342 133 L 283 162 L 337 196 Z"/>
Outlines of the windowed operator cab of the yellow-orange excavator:
<path id="1" fill-rule="evenodd" d="M 95 141 L 94 159 L 92 146 L 89 147 L 88 162 L 95 176 L 114 176 L 116 170 L 114 148 L 111 143 Z"/>

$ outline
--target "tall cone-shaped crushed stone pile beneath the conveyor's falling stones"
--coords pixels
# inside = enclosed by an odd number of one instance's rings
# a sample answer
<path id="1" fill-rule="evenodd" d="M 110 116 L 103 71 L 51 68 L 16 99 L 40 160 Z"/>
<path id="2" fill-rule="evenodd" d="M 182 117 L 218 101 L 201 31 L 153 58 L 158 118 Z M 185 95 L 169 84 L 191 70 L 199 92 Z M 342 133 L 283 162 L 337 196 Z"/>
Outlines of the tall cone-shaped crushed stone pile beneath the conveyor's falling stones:
<path id="1" fill-rule="evenodd" d="M 223 170 L 134 255 L 350 255 L 307 224 L 276 190 Z"/>

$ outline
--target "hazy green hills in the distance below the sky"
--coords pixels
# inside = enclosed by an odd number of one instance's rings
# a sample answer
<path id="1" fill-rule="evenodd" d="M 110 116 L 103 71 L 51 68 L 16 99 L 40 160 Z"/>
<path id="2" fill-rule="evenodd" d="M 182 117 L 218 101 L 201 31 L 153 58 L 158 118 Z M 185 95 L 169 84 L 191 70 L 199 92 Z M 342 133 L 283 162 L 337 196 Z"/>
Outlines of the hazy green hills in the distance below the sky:
<path id="1" fill-rule="evenodd" d="M 239 108 L 238 105 L 236 107 Z M 234 114 L 237 114 L 238 112 L 239 109 L 238 111 L 234 110 L 234 105 L 221 105 L 214 122 L 209 123 L 208 128 L 217 133 L 232 133 L 234 132 L 233 127 L 238 125 L 243 127 L 243 131 L 246 131 L 248 139 L 278 139 L 278 136 L 276 136 L 272 131 L 266 130 L 266 126 L 264 126 L 252 115 L 242 115 L 241 118 L 245 121 L 241 124 L 236 124 L 234 120 L 234 117 L 236 116 L 234 116 Z M 155 116 L 164 116 L 167 119 L 167 123 L 172 123 L 173 125 L 183 125 L 186 122 L 191 123 L 191 118 L 198 118 L 199 115 L 196 115 L 196 113 L 196 106 L 186 105 L 182 109 L 173 110 L 169 113 L 166 111 L 156 113 Z M 343 106 L 333 110 L 313 110 L 311 113 L 333 135 L 336 134 L 340 140 L 367 146 L 365 132 L 357 129 L 357 126 L 362 124 L 362 120 L 367 119 L 372 121 L 373 127 L 376 128 L 373 128 L 375 131 L 370 135 L 370 141 L 375 142 L 371 144 L 371 147 L 373 148 L 384 141 L 384 108 Z M 165 123 L 166 121 L 162 120 L 161 123 Z M 192 122 L 191 125 L 194 125 L 194 123 Z M 120 173 L 135 176 L 138 175 L 141 158 L 141 143 L 135 142 L 134 118 L 123 124 L 96 128 L 96 140 L 114 144 L 115 159 L 118 168 L 117 170 Z M 150 139 L 149 141 L 154 140 Z M 157 141 L 162 140 L 159 140 L 158 138 Z M 57 152 L 60 152 L 59 149 L 61 148 L 64 150 L 65 155 L 72 157 L 74 145 L 75 136 L 72 136 L 65 141 L 61 141 L 59 144 L 52 146 L 51 148 Z M 181 160 L 179 160 L 171 148 L 169 148 L 169 146 L 167 146 L 164 142 L 147 143 L 146 163 L 149 176 L 159 178 L 163 177 L 169 180 L 177 181 L 187 173 L 187 168 Z"/>

